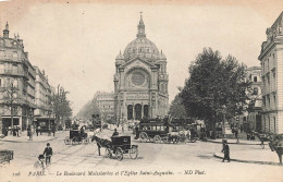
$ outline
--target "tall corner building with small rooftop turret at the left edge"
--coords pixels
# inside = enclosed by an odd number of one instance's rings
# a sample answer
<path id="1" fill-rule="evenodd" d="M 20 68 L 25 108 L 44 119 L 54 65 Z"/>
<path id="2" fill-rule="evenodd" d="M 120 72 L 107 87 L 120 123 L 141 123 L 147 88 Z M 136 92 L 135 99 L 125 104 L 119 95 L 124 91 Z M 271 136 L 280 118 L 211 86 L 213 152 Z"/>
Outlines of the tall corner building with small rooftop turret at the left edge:
<path id="1" fill-rule="evenodd" d="M 7 23 L 0 37 L 0 126 L 26 129 L 33 122 L 35 109 L 35 70 L 23 40 L 19 35 L 9 37 L 9 32 Z"/>

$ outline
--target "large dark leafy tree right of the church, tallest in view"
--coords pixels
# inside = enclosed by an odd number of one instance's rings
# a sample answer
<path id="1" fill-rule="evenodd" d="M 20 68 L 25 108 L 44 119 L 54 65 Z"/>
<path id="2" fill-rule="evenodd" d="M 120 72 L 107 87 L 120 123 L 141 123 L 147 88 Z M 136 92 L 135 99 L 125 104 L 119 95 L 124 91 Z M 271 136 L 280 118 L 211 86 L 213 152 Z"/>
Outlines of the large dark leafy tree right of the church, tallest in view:
<path id="1" fill-rule="evenodd" d="M 181 92 L 187 113 L 212 126 L 223 114 L 230 118 L 242 113 L 250 86 L 244 82 L 245 68 L 232 56 L 222 59 L 219 51 L 204 48 L 189 65 L 189 77 Z"/>

